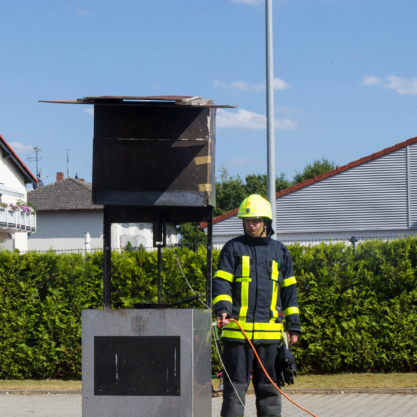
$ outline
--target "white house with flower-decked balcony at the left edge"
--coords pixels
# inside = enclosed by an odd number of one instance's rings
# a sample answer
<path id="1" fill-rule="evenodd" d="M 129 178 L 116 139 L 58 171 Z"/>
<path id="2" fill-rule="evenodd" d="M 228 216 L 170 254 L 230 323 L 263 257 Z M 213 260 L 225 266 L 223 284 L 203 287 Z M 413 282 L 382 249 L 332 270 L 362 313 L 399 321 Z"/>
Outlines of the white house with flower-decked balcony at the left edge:
<path id="1" fill-rule="evenodd" d="M 0 249 L 27 250 L 36 231 L 36 214 L 26 206 L 26 184 L 38 180 L 0 135 Z"/>

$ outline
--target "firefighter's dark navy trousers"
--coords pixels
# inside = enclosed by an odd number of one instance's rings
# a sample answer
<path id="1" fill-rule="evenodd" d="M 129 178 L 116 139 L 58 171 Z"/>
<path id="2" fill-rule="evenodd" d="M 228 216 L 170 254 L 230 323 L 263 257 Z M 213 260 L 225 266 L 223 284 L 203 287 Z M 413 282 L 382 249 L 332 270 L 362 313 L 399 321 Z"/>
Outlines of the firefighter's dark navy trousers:
<path id="1" fill-rule="evenodd" d="M 277 382 L 274 363 L 279 344 L 261 344 L 255 347 L 272 381 Z M 222 360 L 231 381 L 224 373 L 221 417 L 243 416 L 251 370 L 253 370 L 252 383 L 256 394 L 256 415 L 258 417 L 281 416 L 281 394 L 263 373 L 250 345 L 240 342 L 224 342 Z"/>

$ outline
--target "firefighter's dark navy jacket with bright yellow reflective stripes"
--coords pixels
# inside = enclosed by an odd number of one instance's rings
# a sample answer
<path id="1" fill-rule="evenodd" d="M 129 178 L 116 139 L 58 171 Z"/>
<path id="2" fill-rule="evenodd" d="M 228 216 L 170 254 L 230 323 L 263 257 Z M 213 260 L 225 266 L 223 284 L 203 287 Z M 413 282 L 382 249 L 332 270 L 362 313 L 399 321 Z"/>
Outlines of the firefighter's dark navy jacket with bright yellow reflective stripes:
<path id="1" fill-rule="evenodd" d="M 238 320 L 254 343 L 277 343 L 286 331 L 300 334 L 293 261 L 288 249 L 271 238 L 245 234 L 229 240 L 220 252 L 213 279 L 213 308 Z M 222 340 L 245 341 L 230 321 Z"/>

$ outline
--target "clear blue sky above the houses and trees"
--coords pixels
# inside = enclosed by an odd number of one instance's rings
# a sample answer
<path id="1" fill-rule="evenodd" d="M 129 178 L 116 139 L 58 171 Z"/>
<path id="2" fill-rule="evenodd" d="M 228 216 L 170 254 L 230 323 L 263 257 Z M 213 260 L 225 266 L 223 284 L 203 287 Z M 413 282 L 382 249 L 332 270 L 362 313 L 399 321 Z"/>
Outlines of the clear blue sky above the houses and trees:
<path id="1" fill-rule="evenodd" d="M 274 0 L 276 172 L 344 165 L 417 136 L 414 0 Z M 191 95 L 219 110 L 216 167 L 266 172 L 264 0 L 2 4 L 0 134 L 44 183 L 91 181 L 91 106 L 38 100 Z M 32 160 L 28 160 L 32 158 Z"/>

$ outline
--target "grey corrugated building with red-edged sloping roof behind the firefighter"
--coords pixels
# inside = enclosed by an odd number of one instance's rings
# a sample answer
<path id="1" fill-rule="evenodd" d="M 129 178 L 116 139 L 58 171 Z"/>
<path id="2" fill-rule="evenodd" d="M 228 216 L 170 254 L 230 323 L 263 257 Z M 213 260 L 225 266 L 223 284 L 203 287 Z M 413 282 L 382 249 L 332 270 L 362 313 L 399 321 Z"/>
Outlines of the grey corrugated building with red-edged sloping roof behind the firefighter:
<path id="1" fill-rule="evenodd" d="M 416 234 L 417 138 L 281 190 L 276 198 L 275 231 L 284 243 Z M 243 234 L 237 213 L 213 219 L 217 247 Z"/>

